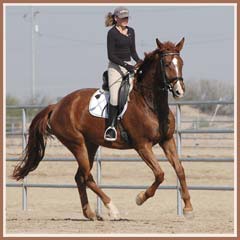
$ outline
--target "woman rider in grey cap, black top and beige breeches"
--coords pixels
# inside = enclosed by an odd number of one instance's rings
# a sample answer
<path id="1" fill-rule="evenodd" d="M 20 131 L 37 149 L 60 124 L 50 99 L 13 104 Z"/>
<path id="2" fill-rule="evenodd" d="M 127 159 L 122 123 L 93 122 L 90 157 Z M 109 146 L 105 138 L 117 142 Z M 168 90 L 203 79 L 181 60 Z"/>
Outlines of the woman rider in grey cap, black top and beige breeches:
<path id="1" fill-rule="evenodd" d="M 106 27 L 113 26 L 107 35 L 108 51 L 108 81 L 110 91 L 109 117 L 104 139 L 115 141 L 117 139 L 116 122 L 118 116 L 118 90 L 122 77 L 129 72 L 134 73 L 134 66 L 130 64 L 131 57 L 137 62 L 134 29 L 128 26 L 129 11 L 125 7 L 117 7 L 112 14 L 106 16 Z"/>

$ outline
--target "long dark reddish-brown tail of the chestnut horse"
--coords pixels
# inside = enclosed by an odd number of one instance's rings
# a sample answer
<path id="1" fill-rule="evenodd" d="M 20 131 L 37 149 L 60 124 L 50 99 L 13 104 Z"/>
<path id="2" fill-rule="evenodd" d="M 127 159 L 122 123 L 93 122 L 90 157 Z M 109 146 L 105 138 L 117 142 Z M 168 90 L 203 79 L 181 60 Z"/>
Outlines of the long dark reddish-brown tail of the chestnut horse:
<path id="1" fill-rule="evenodd" d="M 29 172 L 35 170 L 43 159 L 46 147 L 48 131 L 48 119 L 55 105 L 49 105 L 40 111 L 32 120 L 29 127 L 28 143 L 24 150 L 23 157 L 14 168 L 12 177 L 17 181 L 23 179 Z"/>

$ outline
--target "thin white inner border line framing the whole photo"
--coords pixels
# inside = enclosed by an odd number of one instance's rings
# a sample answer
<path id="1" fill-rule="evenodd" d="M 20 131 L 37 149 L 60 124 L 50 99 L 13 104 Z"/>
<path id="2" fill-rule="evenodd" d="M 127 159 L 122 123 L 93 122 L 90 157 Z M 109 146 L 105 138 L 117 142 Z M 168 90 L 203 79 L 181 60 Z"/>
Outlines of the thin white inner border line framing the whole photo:
<path id="1" fill-rule="evenodd" d="M 234 233 L 233 234 L 6 234 L 6 7 L 8 6 L 233 6 L 234 7 Z M 3 237 L 237 237 L 237 3 L 3 3 Z"/>

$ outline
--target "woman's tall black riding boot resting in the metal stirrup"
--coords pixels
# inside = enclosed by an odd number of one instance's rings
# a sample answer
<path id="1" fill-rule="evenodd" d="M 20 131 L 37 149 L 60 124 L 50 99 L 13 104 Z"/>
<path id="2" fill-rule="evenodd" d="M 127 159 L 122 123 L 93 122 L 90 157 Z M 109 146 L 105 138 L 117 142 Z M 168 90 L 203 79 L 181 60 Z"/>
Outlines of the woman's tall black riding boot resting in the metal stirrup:
<path id="1" fill-rule="evenodd" d="M 113 106 L 109 104 L 107 129 L 104 134 L 104 139 L 107 141 L 115 141 L 117 139 L 117 130 L 116 130 L 117 115 L 118 115 L 118 106 Z"/>

